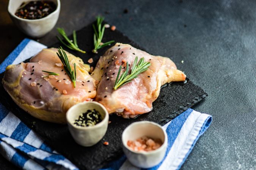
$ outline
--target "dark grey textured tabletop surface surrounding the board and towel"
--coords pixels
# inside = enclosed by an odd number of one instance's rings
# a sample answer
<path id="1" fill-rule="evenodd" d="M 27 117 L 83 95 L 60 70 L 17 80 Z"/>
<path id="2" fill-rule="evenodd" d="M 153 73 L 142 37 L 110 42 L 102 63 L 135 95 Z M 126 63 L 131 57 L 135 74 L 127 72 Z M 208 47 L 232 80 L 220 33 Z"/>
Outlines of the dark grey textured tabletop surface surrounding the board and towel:
<path id="1" fill-rule="evenodd" d="M 11 23 L 7 3 L 0 0 L 0 62 L 26 37 Z M 91 23 L 97 14 L 149 53 L 171 56 L 209 94 L 193 109 L 211 114 L 213 122 L 182 169 L 255 169 L 254 0 L 61 0 L 56 26 L 71 33 Z M 56 34 L 54 29 L 39 42 L 51 45 Z M 14 169 L 3 157 L 0 165 Z"/>

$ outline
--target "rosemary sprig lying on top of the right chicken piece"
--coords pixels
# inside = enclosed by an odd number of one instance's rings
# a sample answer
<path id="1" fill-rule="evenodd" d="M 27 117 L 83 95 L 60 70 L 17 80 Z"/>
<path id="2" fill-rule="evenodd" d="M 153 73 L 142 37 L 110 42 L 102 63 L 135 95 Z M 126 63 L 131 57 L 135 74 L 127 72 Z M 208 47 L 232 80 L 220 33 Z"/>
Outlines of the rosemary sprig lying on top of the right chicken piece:
<path id="1" fill-rule="evenodd" d="M 131 82 L 133 79 L 135 79 L 140 73 L 143 73 L 144 71 L 148 70 L 148 67 L 151 65 L 150 62 L 144 62 L 144 57 L 140 59 L 140 61 L 137 63 L 138 57 L 135 57 L 135 60 L 132 65 L 131 73 L 129 72 L 129 63 L 126 62 L 126 71 L 121 74 L 120 78 L 119 75 L 121 73 L 122 65 L 119 67 L 119 71 L 116 77 L 116 82 L 113 87 L 114 90 L 118 89 L 119 87 Z M 118 80 L 119 79 L 119 80 Z"/>

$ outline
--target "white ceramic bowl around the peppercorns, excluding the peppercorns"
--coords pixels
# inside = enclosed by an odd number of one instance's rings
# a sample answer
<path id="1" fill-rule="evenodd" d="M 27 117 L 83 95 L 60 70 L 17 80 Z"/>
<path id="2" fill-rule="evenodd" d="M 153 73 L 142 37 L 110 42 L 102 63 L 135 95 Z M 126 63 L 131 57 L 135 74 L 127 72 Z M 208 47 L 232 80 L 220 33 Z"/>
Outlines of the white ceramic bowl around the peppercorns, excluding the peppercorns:
<path id="1" fill-rule="evenodd" d="M 9 0 L 8 12 L 14 24 L 28 36 L 39 38 L 47 34 L 57 23 L 60 14 L 60 0 L 50 0 L 57 6 L 56 10 L 42 19 L 28 20 L 17 17 L 16 10 L 20 7 L 22 2 L 30 0 Z"/>

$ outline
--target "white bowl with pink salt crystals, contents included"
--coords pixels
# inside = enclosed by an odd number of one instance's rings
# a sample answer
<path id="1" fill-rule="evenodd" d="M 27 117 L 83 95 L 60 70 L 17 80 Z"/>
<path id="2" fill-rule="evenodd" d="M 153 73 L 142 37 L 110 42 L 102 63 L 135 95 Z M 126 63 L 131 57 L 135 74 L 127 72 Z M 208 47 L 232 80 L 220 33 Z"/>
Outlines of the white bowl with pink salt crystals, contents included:
<path id="1" fill-rule="evenodd" d="M 129 162 L 136 167 L 151 168 L 159 164 L 166 152 L 168 137 L 154 122 L 130 124 L 122 134 L 123 150 Z"/>

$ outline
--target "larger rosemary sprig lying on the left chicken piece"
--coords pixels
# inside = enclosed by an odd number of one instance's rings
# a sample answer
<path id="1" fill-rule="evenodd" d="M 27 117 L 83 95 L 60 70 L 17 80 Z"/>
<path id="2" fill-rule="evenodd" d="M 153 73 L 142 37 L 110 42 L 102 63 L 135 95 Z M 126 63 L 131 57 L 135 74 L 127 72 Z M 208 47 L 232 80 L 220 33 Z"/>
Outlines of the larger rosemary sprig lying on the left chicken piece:
<path id="1" fill-rule="evenodd" d="M 77 72 L 75 70 L 75 68 L 76 68 L 75 63 L 74 63 L 74 70 L 71 70 L 71 66 L 69 65 L 69 61 L 68 61 L 68 56 L 65 53 L 65 51 L 62 49 L 62 47 L 60 47 L 58 49 L 57 55 L 63 64 L 64 70 L 68 74 L 69 78 L 71 79 L 71 81 L 73 82 L 73 85 L 75 87 L 75 79 L 77 77 Z"/>

